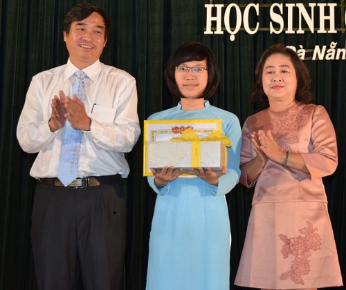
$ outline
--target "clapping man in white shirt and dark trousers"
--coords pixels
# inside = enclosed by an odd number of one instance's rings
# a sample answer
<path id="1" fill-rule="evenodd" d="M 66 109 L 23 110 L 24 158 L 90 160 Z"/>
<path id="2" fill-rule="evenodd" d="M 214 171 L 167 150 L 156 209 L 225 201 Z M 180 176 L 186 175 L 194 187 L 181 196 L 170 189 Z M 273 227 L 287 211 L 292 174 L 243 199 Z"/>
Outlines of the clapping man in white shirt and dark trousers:
<path id="1" fill-rule="evenodd" d="M 109 19 L 91 3 L 64 18 L 67 64 L 33 77 L 17 126 L 19 144 L 39 153 L 31 238 L 39 289 L 120 289 L 125 259 L 125 153 L 140 135 L 136 81 L 100 63 Z M 85 100 L 73 95 L 82 70 Z M 82 132 L 77 177 L 57 178 L 66 124 Z"/>

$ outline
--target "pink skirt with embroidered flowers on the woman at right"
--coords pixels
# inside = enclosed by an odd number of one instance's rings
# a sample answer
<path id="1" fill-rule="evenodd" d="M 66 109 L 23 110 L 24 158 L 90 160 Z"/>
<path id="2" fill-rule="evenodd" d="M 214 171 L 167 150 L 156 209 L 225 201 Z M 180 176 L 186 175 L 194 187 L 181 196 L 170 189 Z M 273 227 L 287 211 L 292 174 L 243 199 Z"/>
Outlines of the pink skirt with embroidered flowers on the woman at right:
<path id="1" fill-rule="evenodd" d="M 262 289 L 342 286 L 327 204 L 253 204 L 235 284 Z"/>

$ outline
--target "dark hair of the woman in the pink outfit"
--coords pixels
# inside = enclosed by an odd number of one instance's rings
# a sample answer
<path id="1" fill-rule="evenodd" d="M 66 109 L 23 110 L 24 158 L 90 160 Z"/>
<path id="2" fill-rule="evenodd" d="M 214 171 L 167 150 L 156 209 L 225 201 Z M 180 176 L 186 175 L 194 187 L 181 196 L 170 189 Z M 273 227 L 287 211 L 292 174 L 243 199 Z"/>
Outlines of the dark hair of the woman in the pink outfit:
<path id="1" fill-rule="evenodd" d="M 255 70 L 255 85 L 251 94 L 251 99 L 255 103 L 261 104 L 264 108 L 269 107 L 268 97 L 264 93 L 262 84 L 262 75 L 266 59 L 271 55 L 280 54 L 285 55 L 291 59 L 292 65 L 295 69 L 297 77 L 297 90 L 295 91 L 295 101 L 302 104 L 311 104 L 313 101 L 313 94 L 311 93 L 311 76 L 307 67 L 304 65 L 299 55 L 291 48 L 286 48 L 280 43 L 269 46 L 260 58 Z"/>

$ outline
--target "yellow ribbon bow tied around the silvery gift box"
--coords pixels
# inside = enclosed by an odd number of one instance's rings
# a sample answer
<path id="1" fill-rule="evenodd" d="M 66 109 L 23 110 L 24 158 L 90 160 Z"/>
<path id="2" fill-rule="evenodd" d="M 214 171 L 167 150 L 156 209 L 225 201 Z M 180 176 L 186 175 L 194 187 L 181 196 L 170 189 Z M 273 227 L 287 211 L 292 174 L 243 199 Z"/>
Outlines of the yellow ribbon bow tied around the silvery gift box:
<path id="1" fill-rule="evenodd" d="M 192 168 L 199 168 L 201 164 L 201 142 L 202 141 L 220 141 L 224 146 L 232 146 L 230 138 L 222 134 L 219 130 L 213 130 L 210 135 L 205 138 L 199 138 L 191 128 L 183 131 L 181 137 L 173 137 L 172 142 L 191 142 L 191 162 Z"/>

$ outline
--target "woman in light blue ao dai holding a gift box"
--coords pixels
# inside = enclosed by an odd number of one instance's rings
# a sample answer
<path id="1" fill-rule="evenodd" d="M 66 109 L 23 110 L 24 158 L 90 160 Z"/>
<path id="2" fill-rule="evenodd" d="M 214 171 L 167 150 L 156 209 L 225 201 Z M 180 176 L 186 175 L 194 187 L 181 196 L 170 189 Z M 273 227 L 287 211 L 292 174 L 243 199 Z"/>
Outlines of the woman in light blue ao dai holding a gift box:
<path id="1" fill-rule="evenodd" d="M 220 74 L 212 50 L 203 44 L 179 46 L 167 63 L 165 78 L 179 104 L 149 119 L 221 119 L 221 133 L 233 145 L 228 148 L 228 166 L 221 171 L 188 171 L 171 164 L 161 171 L 151 169 L 154 176 L 148 182 L 157 197 L 147 290 L 229 290 L 231 236 L 225 195 L 239 182 L 239 120 L 208 101 Z"/>

